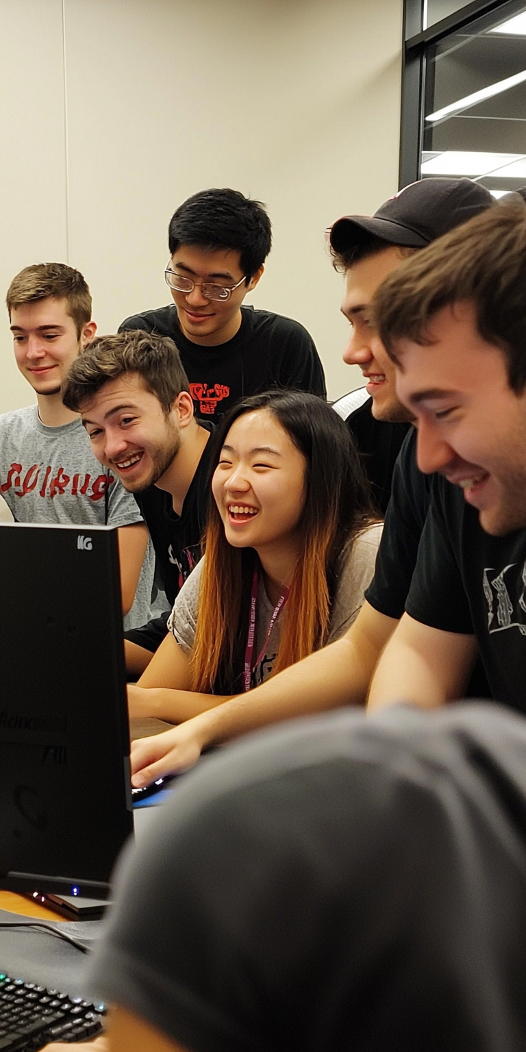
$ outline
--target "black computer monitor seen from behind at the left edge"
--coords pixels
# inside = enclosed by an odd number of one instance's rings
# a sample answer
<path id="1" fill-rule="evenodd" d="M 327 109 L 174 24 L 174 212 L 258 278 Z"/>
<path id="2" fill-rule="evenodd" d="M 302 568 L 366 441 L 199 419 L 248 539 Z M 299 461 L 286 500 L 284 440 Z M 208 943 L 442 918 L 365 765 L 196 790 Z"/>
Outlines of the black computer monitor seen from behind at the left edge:
<path id="1" fill-rule="evenodd" d="M 118 538 L 0 523 L 0 887 L 104 898 L 133 830 Z"/>

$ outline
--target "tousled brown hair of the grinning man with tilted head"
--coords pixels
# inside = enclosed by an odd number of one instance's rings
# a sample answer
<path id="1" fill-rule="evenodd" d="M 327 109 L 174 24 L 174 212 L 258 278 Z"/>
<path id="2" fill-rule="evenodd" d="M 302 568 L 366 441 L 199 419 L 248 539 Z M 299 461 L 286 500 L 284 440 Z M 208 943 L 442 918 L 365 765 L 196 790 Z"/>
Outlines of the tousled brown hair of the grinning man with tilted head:
<path id="1" fill-rule="evenodd" d="M 62 388 L 62 401 L 68 409 L 80 412 L 97 391 L 126 372 L 140 376 L 144 387 L 159 399 L 169 412 L 181 391 L 188 391 L 188 379 L 179 351 L 168 337 L 154 336 L 139 329 L 126 329 L 117 336 L 92 340 L 73 363 Z"/>

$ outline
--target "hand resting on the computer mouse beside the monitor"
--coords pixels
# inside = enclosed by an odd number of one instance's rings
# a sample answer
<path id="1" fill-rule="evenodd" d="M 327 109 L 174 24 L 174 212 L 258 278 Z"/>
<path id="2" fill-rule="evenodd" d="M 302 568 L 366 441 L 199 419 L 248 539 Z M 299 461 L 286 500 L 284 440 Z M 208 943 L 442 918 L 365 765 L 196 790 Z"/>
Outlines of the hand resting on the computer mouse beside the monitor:
<path id="1" fill-rule="evenodd" d="M 132 743 L 132 785 L 137 789 L 165 774 L 179 774 L 194 767 L 207 744 L 200 716 L 153 737 Z"/>

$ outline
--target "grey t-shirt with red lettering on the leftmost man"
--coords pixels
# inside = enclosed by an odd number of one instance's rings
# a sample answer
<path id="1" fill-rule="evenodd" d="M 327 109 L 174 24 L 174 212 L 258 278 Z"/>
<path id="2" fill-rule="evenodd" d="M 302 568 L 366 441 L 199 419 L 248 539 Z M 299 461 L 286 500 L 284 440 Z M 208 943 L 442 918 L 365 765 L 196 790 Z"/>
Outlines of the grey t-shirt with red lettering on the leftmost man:
<path id="1" fill-rule="evenodd" d="M 80 419 L 47 427 L 36 405 L 0 416 L 0 495 L 21 523 L 132 526 L 143 521 L 133 494 L 94 457 Z M 125 628 L 150 616 L 154 568 L 148 543 Z"/>

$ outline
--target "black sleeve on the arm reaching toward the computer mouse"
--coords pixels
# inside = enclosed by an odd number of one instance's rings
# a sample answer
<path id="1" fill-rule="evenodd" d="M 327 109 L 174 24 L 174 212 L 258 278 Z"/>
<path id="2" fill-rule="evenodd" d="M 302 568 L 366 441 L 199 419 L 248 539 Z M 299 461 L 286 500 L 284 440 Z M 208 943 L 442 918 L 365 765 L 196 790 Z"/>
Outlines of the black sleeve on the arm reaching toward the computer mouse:
<path id="1" fill-rule="evenodd" d="M 423 474 L 417 467 L 417 431 L 411 427 L 392 472 L 391 499 L 385 515 L 375 576 L 365 592 L 367 602 L 376 610 L 397 621 L 404 612 L 417 565 L 433 478 Z"/>

